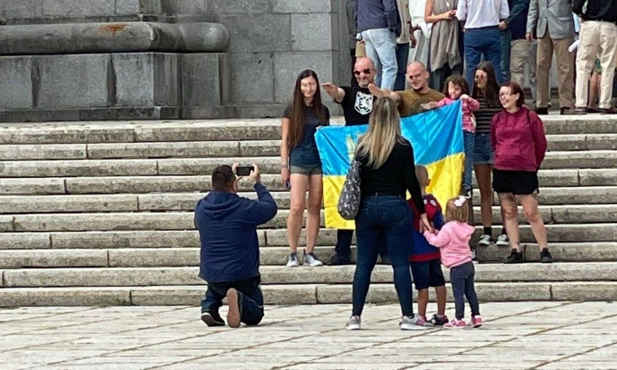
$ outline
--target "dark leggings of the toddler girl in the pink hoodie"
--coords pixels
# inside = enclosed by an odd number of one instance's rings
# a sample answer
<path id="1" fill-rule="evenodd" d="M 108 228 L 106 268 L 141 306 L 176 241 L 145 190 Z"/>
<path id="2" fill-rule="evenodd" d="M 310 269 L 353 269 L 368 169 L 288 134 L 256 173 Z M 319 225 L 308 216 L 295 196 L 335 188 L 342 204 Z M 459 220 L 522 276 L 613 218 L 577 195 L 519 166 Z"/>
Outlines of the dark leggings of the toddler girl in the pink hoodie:
<path id="1" fill-rule="evenodd" d="M 454 308 L 457 320 L 465 317 L 465 298 L 471 307 L 471 317 L 480 315 L 480 303 L 476 289 L 473 287 L 473 276 L 476 273 L 473 262 L 450 268 L 450 282 L 452 283 L 452 295 L 454 295 Z"/>

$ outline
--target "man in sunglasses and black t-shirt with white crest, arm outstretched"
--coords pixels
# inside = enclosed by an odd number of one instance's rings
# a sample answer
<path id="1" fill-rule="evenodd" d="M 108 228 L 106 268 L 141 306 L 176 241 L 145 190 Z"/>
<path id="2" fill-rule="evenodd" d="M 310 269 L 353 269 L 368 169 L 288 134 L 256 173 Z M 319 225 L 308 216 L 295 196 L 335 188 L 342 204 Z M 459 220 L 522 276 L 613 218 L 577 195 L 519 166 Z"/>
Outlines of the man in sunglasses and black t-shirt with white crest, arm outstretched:
<path id="1" fill-rule="evenodd" d="M 373 111 L 373 102 L 377 100 L 368 91 L 368 84 L 375 81 L 376 72 L 373 60 L 368 57 L 360 57 L 356 60 L 354 66 L 357 86 L 339 87 L 330 82 L 322 85 L 328 95 L 335 102 L 341 104 L 345 116 L 345 126 L 368 125 L 368 117 Z M 336 247 L 334 247 L 336 255 L 334 255 L 331 265 L 348 265 L 350 263 L 352 236 L 354 236 L 353 230 L 337 229 Z M 384 258 L 387 260 L 385 247 L 379 254 L 381 254 L 382 260 Z"/>

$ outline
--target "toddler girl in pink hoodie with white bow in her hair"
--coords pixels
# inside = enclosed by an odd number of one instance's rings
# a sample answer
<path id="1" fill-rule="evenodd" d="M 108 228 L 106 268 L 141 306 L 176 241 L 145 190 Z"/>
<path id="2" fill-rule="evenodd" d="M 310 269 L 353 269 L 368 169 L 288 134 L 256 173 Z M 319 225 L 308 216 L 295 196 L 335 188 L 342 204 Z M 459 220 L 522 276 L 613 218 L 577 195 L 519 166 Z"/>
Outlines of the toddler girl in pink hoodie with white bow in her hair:
<path id="1" fill-rule="evenodd" d="M 444 325 L 446 329 L 462 329 L 466 327 L 463 320 L 465 317 L 465 300 L 467 298 L 471 306 L 471 326 L 482 326 L 480 316 L 480 304 L 478 295 L 473 287 L 475 269 L 471 261 L 469 241 L 474 232 L 474 227 L 466 223 L 469 213 L 469 205 L 465 197 L 448 200 L 445 208 L 447 223 L 437 234 L 424 231 L 424 237 L 429 244 L 439 248 L 441 263 L 450 268 L 450 283 L 454 295 L 456 318 Z"/>

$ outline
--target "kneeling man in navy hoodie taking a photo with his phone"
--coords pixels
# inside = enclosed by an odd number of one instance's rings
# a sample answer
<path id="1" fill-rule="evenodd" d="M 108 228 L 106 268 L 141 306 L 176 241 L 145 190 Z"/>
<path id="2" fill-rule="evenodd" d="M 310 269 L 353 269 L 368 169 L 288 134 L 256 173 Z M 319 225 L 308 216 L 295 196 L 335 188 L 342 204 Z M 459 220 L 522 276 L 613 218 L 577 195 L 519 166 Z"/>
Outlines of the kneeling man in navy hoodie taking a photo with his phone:
<path id="1" fill-rule="evenodd" d="M 276 215 L 276 202 L 260 183 L 253 165 L 249 179 L 258 200 L 238 196 L 238 164 L 218 166 L 212 173 L 212 191 L 195 207 L 195 225 L 201 241 L 199 277 L 208 282 L 201 302 L 201 319 L 207 326 L 223 326 L 218 314 L 227 297 L 227 324 L 257 325 L 263 318 L 259 287 L 259 242 L 255 228 Z"/>

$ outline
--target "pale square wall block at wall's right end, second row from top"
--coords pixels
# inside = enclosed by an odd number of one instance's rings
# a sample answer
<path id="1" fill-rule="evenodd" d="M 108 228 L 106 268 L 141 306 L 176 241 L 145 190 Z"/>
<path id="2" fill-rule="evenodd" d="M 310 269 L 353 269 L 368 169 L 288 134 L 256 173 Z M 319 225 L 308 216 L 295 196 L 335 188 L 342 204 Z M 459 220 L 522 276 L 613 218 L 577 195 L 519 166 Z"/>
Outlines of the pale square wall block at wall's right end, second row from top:
<path id="1" fill-rule="evenodd" d="M 333 49 L 331 14 L 292 14 L 292 51 L 321 51 Z"/>

